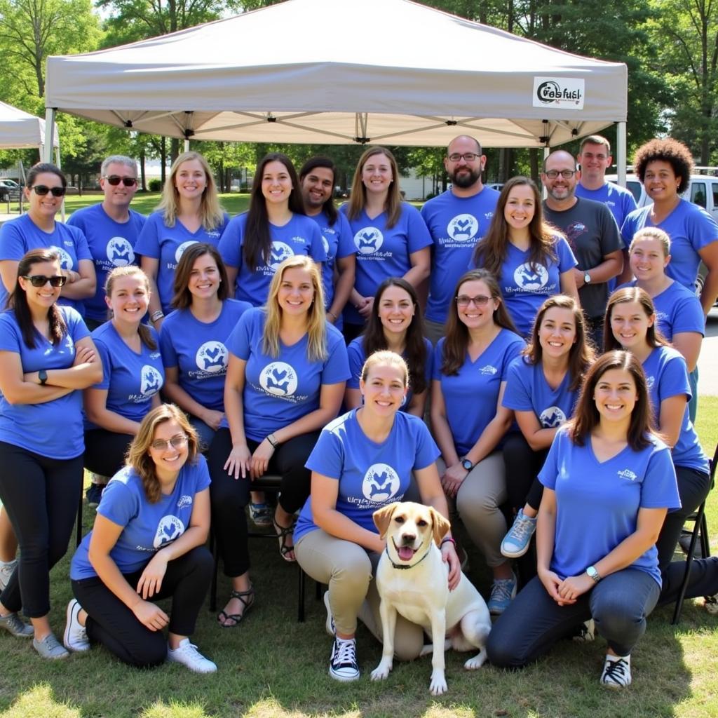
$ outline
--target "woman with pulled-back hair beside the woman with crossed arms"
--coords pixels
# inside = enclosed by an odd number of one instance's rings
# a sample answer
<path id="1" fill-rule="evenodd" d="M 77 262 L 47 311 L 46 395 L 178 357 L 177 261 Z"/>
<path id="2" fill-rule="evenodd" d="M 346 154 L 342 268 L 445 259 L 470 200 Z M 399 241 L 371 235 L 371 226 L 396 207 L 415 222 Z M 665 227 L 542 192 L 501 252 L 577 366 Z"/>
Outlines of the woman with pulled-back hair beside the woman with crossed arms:
<path id="1" fill-rule="evenodd" d="M 105 294 L 112 318 L 92 333 L 103 378 L 84 394 L 85 469 L 92 473 L 87 496 L 95 507 L 145 414 L 159 406 L 164 383 L 159 337 L 143 323 L 150 297 L 146 274 L 136 266 L 116 267 Z"/>

